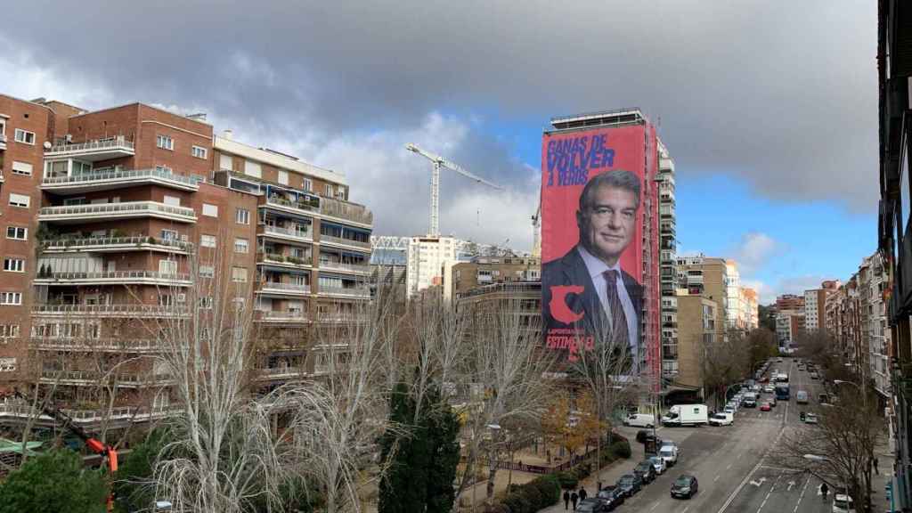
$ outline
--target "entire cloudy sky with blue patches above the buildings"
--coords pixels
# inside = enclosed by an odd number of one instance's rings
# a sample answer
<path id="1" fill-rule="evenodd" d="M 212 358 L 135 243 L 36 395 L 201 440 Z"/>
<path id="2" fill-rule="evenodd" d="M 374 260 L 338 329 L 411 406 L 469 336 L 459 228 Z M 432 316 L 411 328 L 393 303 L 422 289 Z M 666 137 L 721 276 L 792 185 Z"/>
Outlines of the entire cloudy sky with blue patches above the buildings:
<path id="1" fill-rule="evenodd" d="M 531 246 L 550 117 L 637 106 L 676 160 L 680 250 L 770 299 L 876 247 L 876 3 L 51 2 L 4 8 L 2 92 L 204 111 L 347 174 L 376 233 Z M 66 25 L 48 25 L 49 19 Z"/>

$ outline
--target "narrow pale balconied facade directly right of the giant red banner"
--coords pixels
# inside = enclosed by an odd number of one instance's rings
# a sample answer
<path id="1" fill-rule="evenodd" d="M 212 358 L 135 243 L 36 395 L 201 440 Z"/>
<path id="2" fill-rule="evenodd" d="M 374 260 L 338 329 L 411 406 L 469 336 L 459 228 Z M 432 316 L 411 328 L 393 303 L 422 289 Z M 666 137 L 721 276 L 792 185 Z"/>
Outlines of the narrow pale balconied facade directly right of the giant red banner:
<path id="1" fill-rule="evenodd" d="M 665 215 L 658 221 L 659 293 L 661 294 L 662 380 L 678 375 L 678 245 L 675 215 L 675 162 L 658 140 L 658 207 Z M 664 206 L 664 210 L 663 210 Z"/>

